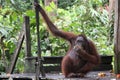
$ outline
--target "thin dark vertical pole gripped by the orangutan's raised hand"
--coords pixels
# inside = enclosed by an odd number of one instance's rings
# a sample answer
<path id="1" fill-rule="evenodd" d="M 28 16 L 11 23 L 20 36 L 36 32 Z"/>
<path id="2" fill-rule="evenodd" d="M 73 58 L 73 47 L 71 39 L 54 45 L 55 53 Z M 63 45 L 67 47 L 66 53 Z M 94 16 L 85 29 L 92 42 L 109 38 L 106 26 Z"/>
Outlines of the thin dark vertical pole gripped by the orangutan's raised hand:
<path id="1" fill-rule="evenodd" d="M 35 3 L 38 3 L 38 0 L 34 0 Z M 39 33 L 39 10 L 35 7 L 36 13 L 36 27 L 37 27 L 37 43 L 38 43 L 38 64 L 37 64 L 37 71 L 36 71 L 36 79 L 39 80 L 39 75 L 41 71 L 42 77 L 45 77 L 45 73 L 42 67 L 42 59 L 41 59 L 41 48 L 40 48 L 40 33 Z"/>

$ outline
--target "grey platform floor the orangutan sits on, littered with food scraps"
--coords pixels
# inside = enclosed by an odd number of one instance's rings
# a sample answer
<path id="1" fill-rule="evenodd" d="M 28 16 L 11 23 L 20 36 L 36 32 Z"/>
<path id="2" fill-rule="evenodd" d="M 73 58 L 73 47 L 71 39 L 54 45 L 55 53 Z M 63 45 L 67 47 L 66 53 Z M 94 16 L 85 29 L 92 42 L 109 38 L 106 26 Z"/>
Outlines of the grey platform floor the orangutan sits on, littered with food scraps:
<path id="1" fill-rule="evenodd" d="M 105 77 L 99 77 L 98 73 L 105 73 Z M 0 75 L 0 80 L 36 80 L 34 73 Z M 64 78 L 61 73 L 47 73 L 45 78 L 40 80 L 119 80 L 110 71 L 91 71 L 84 78 Z"/>

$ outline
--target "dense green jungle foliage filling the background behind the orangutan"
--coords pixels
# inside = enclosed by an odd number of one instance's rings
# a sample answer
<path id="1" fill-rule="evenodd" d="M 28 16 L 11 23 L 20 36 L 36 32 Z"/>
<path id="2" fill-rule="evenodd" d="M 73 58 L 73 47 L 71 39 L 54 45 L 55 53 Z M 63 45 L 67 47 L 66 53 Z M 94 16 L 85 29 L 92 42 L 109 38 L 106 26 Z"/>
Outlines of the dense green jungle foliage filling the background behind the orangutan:
<path id="1" fill-rule="evenodd" d="M 109 16 L 109 0 L 58 0 L 45 6 L 53 23 L 61 30 L 84 33 L 96 45 L 100 55 L 113 55 L 113 22 Z M 52 13 L 52 14 L 51 14 Z M 32 56 L 37 56 L 36 20 L 33 0 L 0 0 L 0 72 L 5 72 L 12 60 L 23 17 L 30 17 Z M 40 39 L 42 56 L 64 56 L 68 42 L 48 33 L 40 16 Z M 4 53 L 4 51 L 7 51 Z M 24 72 L 25 44 L 20 52 L 16 72 Z"/>

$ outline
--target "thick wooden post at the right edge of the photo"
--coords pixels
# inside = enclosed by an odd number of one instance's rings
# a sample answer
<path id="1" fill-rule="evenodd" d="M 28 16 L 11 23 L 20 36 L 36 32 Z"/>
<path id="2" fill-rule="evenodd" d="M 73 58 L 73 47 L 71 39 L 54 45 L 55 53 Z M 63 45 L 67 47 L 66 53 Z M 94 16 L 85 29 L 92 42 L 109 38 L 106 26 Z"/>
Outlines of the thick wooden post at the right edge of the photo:
<path id="1" fill-rule="evenodd" d="M 114 23 L 114 70 L 120 73 L 120 0 L 115 0 L 115 23 Z"/>

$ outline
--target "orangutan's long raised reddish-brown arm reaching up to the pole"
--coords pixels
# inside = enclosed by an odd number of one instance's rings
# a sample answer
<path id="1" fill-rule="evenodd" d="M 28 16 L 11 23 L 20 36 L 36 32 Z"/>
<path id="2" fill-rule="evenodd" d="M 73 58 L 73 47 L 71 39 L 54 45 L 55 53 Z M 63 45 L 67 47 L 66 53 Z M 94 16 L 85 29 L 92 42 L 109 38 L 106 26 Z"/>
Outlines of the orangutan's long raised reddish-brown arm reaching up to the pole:
<path id="1" fill-rule="evenodd" d="M 72 37 L 76 37 L 75 34 L 71 33 L 71 32 L 64 32 L 59 30 L 53 23 L 52 21 L 49 19 L 48 15 L 46 14 L 46 12 L 44 11 L 44 9 L 37 3 L 35 3 L 35 7 L 37 7 L 39 9 L 39 12 L 41 13 L 43 19 L 45 20 L 46 24 L 47 24 L 47 28 L 51 31 L 51 33 L 54 36 L 58 36 L 61 38 L 64 38 L 66 40 L 69 40 Z"/>

